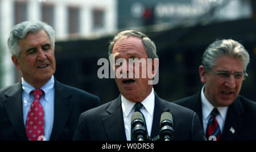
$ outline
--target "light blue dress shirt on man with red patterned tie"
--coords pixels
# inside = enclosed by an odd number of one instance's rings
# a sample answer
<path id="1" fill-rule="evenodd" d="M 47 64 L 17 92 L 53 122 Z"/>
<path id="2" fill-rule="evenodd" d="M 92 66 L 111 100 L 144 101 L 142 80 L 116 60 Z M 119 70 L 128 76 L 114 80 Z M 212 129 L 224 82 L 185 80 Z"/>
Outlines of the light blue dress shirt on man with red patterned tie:
<path id="1" fill-rule="evenodd" d="M 41 87 L 44 95 L 40 98 L 40 103 L 44 108 L 44 137 L 49 141 L 52 133 L 53 119 L 54 119 L 54 77 Z M 35 87 L 31 86 L 22 78 L 22 105 L 23 105 L 23 120 L 26 126 L 27 114 L 30 106 L 34 100 L 34 94 L 31 92 Z"/>

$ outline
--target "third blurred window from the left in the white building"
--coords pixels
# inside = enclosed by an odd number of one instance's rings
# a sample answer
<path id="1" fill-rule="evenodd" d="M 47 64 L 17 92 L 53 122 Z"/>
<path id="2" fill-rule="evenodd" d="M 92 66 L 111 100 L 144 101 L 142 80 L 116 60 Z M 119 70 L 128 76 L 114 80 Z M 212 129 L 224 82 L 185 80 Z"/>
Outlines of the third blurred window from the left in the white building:
<path id="1" fill-rule="evenodd" d="M 79 33 L 79 8 L 68 8 L 68 31 L 69 33 Z"/>

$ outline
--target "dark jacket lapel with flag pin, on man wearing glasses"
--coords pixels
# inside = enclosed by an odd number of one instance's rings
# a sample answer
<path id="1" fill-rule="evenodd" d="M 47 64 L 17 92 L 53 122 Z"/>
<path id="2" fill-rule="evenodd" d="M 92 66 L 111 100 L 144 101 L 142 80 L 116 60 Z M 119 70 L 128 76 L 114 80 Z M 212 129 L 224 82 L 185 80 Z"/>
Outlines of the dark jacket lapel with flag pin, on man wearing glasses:
<path id="1" fill-rule="evenodd" d="M 223 133 L 221 135 L 221 140 L 225 140 L 225 141 L 236 140 L 237 133 L 242 128 L 242 124 L 243 124 L 242 113 L 244 112 L 245 111 L 243 109 L 243 105 L 240 102 L 240 99 L 238 97 L 233 104 L 229 105 Z"/>

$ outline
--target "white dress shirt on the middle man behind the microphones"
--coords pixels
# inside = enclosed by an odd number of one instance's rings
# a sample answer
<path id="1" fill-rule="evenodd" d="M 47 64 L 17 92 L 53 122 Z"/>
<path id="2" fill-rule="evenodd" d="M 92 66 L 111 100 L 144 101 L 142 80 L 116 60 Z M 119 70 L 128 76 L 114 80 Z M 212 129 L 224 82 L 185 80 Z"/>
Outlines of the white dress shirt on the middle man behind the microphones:
<path id="1" fill-rule="evenodd" d="M 125 125 L 125 134 L 127 141 L 131 140 L 131 115 L 135 112 L 134 109 L 134 102 L 130 102 L 127 100 L 123 95 L 121 96 L 122 101 L 122 110 L 123 110 L 123 122 Z M 154 88 L 152 88 L 152 91 L 150 95 L 147 96 L 146 99 L 144 99 L 142 102 L 143 107 L 141 108 L 141 112 L 143 113 L 146 124 L 147 124 L 147 132 L 150 136 L 151 129 L 152 129 L 152 123 L 153 123 L 153 116 L 154 116 L 154 107 L 155 107 L 155 94 L 154 94 Z"/>

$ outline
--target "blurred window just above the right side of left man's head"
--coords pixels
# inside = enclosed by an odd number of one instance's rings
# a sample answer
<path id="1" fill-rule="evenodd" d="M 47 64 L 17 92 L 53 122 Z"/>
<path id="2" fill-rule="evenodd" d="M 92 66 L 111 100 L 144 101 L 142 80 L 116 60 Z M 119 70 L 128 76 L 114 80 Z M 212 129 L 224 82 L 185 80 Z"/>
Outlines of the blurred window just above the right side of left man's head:
<path id="1" fill-rule="evenodd" d="M 49 5 L 49 4 L 43 4 L 42 5 L 42 19 L 43 22 L 46 22 L 47 24 L 49 24 L 49 26 L 54 27 L 54 7 L 53 5 Z"/>

